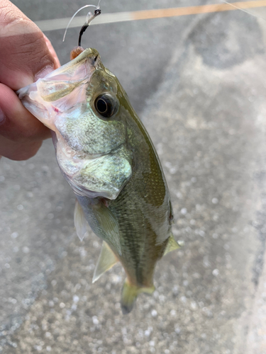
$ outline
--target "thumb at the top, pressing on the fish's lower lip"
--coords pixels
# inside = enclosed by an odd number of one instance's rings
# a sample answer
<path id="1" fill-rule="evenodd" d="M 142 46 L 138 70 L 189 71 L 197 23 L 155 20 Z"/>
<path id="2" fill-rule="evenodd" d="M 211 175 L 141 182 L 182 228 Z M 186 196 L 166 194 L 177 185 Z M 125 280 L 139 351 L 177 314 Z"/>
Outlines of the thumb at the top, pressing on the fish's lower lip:
<path id="1" fill-rule="evenodd" d="M 43 33 L 9 0 L 0 1 L 0 82 L 21 89 L 58 67 Z"/>

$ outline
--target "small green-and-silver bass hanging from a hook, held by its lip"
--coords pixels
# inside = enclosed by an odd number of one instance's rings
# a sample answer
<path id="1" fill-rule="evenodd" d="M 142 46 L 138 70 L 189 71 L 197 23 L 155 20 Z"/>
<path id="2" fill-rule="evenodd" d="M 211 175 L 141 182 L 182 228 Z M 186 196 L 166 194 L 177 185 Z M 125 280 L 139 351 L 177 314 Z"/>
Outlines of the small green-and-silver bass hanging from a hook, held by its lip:
<path id="1" fill-rule="evenodd" d="M 103 240 L 93 282 L 118 261 L 126 272 L 121 309 L 155 290 L 157 261 L 179 248 L 159 157 L 120 82 L 88 48 L 18 90 L 23 105 L 52 131 L 57 163 L 76 195 L 80 239 Z"/>

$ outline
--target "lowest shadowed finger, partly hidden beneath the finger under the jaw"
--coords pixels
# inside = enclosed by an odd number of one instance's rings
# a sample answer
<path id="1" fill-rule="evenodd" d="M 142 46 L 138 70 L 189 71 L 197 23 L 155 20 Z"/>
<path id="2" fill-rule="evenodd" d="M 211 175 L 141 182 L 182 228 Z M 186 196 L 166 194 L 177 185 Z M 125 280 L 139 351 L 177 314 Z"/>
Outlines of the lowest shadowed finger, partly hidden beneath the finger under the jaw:
<path id="1" fill-rule="evenodd" d="M 11 160 L 28 160 L 38 152 L 41 144 L 42 142 L 11 142 L 0 136 L 0 154 Z"/>

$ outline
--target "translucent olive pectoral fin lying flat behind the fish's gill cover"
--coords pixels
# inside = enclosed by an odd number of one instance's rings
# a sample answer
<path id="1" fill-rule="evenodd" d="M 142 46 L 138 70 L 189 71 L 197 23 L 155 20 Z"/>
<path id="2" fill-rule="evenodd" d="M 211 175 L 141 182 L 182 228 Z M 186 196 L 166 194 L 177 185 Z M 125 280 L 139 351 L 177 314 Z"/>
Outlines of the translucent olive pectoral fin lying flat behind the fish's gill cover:
<path id="1" fill-rule="evenodd" d="M 98 220 L 99 224 L 101 224 L 101 228 L 104 231 L 106 241 L 111 243 L 119 256 L 121 256 L 122 250 L 120 244 L 119 227 L 116 218 L 113 216 L 113 213 L 104 204 L 95 205 L 93 210 L 96 219 Z"/>

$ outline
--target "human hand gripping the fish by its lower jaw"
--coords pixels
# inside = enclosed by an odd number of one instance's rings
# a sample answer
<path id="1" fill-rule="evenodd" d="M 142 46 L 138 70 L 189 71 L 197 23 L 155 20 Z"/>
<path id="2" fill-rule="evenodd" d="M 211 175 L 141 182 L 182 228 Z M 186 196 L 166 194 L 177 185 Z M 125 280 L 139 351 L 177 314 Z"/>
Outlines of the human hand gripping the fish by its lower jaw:
<path id="1" fill-rule="evenodd" d="M 60 67 L 50 41 L 9 0 L 0 2 L 0 156 L 34 156 L 50 131 L 23 107 L 14 91 Z"/>

